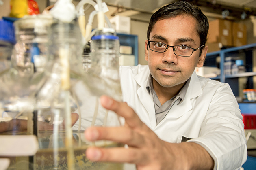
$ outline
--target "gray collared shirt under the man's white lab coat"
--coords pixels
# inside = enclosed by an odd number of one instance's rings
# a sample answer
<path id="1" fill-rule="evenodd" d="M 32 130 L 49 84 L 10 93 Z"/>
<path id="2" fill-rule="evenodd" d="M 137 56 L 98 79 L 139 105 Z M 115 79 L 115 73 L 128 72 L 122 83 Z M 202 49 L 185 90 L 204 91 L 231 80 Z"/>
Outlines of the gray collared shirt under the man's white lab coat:
<path id="1" fill-rule="evenodd" d="M 148 93 L 152 96 L 154 100 L 154 106 L 155 106 L 155 112 L 156 112 L 156 125 L 158 125 L 158 123 L 160 123 L 161 120 L 165 118 L 165 116 L 167 115 L 167 113 L 169 112 L 169 110 L 177 100 L 179 100 L 177 105 L 183 102 L 185 95 L 187 93 L 187 89 L 189 87 L 190 79 L 191 77 L 187 80 L 185 85 L 182 87 L 182 89 L 176 96 L 172 97 L 170 100 L 166 101 L 163 105 L 161 105 L 158 99 L 158 96 L 156 95 L 156 91 L 153 88 L 152 75 L 150 75 L 146 88 L 148 90 Z"/>

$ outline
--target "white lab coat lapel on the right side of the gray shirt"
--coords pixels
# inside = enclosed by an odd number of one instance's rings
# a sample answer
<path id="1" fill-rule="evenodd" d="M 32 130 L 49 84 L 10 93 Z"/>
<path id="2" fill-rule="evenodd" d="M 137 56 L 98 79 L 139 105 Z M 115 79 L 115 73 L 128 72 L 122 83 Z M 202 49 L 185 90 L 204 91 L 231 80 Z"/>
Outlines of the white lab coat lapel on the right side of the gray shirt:
<path id="1" fill-rule="evenodd" d="M 189 112 L 189 110 L 192 109 L 191 99 L 199 96 L 200 94 L 202 94 L 202 88 L 196 73 L 193 72 L 183 102 L 178 104 L 179 100 L 177 100 L 170 109 L 169 113 L 165 116 L 165 119 L 176 119 Z"/>

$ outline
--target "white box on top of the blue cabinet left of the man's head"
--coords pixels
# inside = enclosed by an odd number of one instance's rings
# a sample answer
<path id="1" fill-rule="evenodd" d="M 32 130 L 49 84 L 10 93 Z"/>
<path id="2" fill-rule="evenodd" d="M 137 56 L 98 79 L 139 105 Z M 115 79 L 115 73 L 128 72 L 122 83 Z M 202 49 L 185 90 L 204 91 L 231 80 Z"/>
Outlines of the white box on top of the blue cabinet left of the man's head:
<path id="1" fill-rule="evenodd" d="M 130 17 L 116 15 L 109 19 L 109 21 L 111 22 L 112 27 L 115 28 L 116 32 L 130 34 Z"/>

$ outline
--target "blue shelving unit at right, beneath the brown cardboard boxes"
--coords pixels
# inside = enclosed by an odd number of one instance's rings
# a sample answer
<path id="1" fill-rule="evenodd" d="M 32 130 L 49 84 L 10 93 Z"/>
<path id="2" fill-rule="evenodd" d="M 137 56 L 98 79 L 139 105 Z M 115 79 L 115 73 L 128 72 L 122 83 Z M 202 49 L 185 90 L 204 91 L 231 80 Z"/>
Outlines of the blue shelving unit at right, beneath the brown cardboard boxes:
<path id="1" fill-rule="evenodd" d="M 253 51 L 256 49 L 256 43 L 243 45 L 240 47 L 232 47 L 228 49 L 223 49 L 220 51 L 215 51 L 208 53 L 206 55 L 206 61 L 204 66 L 217 66 L 216 57 L 220 57 L 219 67 L 221 69 L 221 74 L 218 77 L 212 78 L 219 80 L 224 83 L 229 83 L 235 96 L 239 96 L 239 77 L 247 77 L 248 81 L 245 89 L 253 89 L 253 80 L 252 77 L 256 76 L 256 72 L 252 71 L 253 68 Z M 242 57 L 245 61 L 246 72 L 234 74 L 234 75 L 225 75 L 224 74 L 224 62 L 226 57 Z"/>

